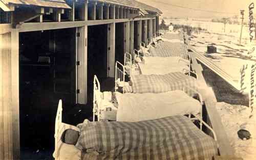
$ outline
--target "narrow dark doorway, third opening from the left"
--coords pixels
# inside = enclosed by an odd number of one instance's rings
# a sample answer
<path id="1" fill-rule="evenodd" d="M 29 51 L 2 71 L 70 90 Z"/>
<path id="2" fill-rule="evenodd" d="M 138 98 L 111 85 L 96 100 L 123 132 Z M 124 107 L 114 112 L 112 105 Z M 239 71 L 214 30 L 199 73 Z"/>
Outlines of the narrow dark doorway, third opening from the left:
<path id="1" fill-rule="evenodd" d="M 115 61 L 123 64 L 124 56 L 124 23 L 116 23 Z"/>

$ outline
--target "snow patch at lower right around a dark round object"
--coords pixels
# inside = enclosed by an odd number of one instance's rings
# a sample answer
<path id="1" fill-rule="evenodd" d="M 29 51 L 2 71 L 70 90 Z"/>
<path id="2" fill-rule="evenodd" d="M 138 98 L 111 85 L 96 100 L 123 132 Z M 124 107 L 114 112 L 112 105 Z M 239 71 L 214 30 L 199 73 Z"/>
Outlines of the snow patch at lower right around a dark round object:
<path id="1" fill-rule="evenodd" d="M 256 121 L 255 117 L 249 118 L 251 109 L 247 106 L 231 105 L 225 102 L 218 102 L 216 107 L 229 142 L 235 150 L 235 155 L 242 157 L 244 160 L 255 159 Z M 248 130 L 251 134 L 251 139 L 241 140 L 237 134 L 239 129 Z"/>

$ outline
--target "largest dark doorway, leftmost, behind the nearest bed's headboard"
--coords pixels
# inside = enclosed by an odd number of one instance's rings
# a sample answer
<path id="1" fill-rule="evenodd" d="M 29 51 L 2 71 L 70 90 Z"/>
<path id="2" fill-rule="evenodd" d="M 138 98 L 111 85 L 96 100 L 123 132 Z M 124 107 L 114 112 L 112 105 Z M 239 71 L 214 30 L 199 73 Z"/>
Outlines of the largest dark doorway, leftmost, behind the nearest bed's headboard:
<path id="1" fill-rule="evenodd" d="M 19 33 L 22 159 L 52 157 L 58 100 L 63 110 L 74 105 L 75 76 L 75 29 Z"/>

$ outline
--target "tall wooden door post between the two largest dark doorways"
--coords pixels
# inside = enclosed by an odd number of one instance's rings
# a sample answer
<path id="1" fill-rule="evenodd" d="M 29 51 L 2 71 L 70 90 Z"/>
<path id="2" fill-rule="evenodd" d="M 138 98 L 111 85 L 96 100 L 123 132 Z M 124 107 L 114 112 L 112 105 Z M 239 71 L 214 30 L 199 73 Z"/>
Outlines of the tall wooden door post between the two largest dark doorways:
<path id="1" fill-rule="evenodd" d="M 79 37 L 77 38 L 78 48 L 77 52 L 77 61 L 80 62 L 78 68 L 78 85 L 77 89 L 79 89 L 78 100 L 79 104 L 87 103 L 87 33 L 88 26 L 81 26 L 77 29 L 79 33 Z"/>

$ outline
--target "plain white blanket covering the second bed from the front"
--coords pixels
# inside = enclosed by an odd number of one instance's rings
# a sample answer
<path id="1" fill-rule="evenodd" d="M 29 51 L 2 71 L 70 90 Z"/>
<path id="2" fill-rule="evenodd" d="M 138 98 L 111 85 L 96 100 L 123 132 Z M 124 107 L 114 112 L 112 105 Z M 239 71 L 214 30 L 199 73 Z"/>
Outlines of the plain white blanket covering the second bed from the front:
<path id="1" fill-rule="evenodd" d="M 201 103 L 181 90 L 165 93 L 115 93 L 117 121 L 137 122 L 174 115 L 199 114 Z"/>

